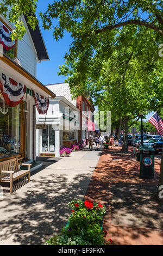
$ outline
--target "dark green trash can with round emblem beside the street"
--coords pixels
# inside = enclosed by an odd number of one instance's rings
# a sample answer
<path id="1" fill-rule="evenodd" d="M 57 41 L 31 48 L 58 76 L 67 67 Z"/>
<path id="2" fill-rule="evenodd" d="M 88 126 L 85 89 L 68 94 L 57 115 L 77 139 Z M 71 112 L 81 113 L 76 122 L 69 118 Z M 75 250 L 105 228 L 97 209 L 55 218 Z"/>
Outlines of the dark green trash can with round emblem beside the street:
<path id="1" fill-rule="evenodd" d="M 155 150 L 152 147 L 146 145 L 139 147 L 141 178 L 154 178 L 154 153 Z"/>

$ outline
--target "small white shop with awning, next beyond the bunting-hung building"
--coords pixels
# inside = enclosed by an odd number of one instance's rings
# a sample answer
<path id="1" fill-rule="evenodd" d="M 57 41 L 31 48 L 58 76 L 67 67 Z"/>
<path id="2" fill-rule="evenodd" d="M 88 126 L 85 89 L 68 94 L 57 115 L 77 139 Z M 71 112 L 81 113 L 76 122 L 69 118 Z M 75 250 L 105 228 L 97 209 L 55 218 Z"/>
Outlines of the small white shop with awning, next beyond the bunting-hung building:
<path id="1" fill-rule="evenodd" d="M 37 121 L 46 125 L 46 129 L 36 130 L 36 138 L 39 141 L 36 148 L 37 156 L 60 157 L 61 147 L 70 148 L 71 145 L 77 144 L 80 113 L 78 108 L 64 97 L 57 96 L 51 99 L 47 115 L 39 115 Z"/>

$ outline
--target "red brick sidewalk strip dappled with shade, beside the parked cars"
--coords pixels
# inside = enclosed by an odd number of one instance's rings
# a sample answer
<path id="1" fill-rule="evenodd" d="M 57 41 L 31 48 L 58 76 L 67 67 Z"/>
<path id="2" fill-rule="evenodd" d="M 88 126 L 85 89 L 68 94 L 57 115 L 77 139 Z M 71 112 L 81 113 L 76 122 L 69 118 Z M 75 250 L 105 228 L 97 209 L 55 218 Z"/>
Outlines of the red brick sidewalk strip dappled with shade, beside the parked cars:
<path id="1" fill-rule="evenodd" d="M 155 200 L 160 162 L 155 159 L 153 180 L 140 179 L 136 156 L 103 151 L 85 200 L 105 204 L 103 228 L 114 245 L 163 245 L 163 211 Z"/>

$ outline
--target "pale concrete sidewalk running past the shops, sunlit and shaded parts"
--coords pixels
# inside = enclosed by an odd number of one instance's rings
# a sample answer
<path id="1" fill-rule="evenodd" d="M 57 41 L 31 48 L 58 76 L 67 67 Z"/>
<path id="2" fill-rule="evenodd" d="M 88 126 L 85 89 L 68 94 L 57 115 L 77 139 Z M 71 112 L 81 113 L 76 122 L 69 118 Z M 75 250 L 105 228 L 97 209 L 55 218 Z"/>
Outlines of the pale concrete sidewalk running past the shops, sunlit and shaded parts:
<path id="1" fill-rule="evenodd" d="M 46 159 L 31 181 L 18 182 L 0 200 L 0 245 L 44 245 L 59 234 L 71 214 L 67 203 L 84 199 L 101 150 Z"/>

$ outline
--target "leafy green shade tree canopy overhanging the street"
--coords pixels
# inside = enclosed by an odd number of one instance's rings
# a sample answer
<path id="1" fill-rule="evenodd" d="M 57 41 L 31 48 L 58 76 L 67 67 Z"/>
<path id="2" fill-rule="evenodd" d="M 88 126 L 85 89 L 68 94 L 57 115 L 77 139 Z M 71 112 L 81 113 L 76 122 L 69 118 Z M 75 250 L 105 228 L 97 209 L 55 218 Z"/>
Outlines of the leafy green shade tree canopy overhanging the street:
<path id="1" fill-rule="evenodd" d="M 27 16 L 29 25 L 33 29 L 35 28 L 36 4 L 36 0 L 3 0 L 0 2 L 0 13 L 4 16 L 8 13 L 9 21 L 16 25 L 12 38 L 21 39 L 25 33 L 21 22 L 22 14 Z M 69 52 L 65 54 L 66 66 L 61 68 L 61 72 L 70 75 L 70 86 L 76 88 L 76 92 L 82 92 L 82 90 L 84 92 L 87 87 L 90 89 L 90 86 L 86 84 L 89 78 L 91 86 L 95 87 L 92 80 L 97 82 L 101 78 L 99 74 L 102 74 L 102 60 L 110 65 L 109 57 L 115 51 L 115 47 L 117 52 L 121 52 L 128 48 L 128 42 L 130 42 L 129 49 L 131 51 L 124 51 L 123 58 L 120 56 L 121 63 L 117 62 L 116 69 L 120 70 L 120 74 L 114 78 L 114 82 L 118 82 L 115 87 L 118 86 L 119 92 L 123 88 L 122 93 L 124 94 L 124 92 L 130 92 L 130 89 L 133 89 L 137 83 L 140 92 L 142 93 L 142 87 L 145 87 L 145 92 L 148 94 L 147 87 L 151 86 L 154 94 L 152 98 L 150 97 L 150 106 L 156 110 L 154 108 L 161 106 L 162 102 L 162 96 L 156 96 L 156 94 L 162 95 L 162 58 L 158 54 L 163 41 L 162 7 L 162 0 L 57 0 L 49 4 L 47 11 L 40 13 L 40 16 L 43 27 L 45 29 L 52 28 L 56 40 L 62 38 L 65 31 L 72 36 L 72 45 Z M 54 27 L 53 19 L 57 23 Z M 137 65 L 135 75 L 139 74 L 139 76 L 137 75 L 136 79 L 132 76 L 136 81 L 133 84 L 128 70 L 134 59 L 136 59 L 135 64 Z M 133 72 L 131 73 L 133 74 Z M 142 76 L 141 79 L 140 76 Z M 146 78 L 147 80 L 145 80 Z M 105 83 L 102 84 L 105 86 Z M 112 82 L 112 88 L 113 84 Z M 107 93 L 109 94 L 109 90 L 104 95 L 101 94 L 97 87 L 92 95 L 96 95 L 98 99 L 102 97 L 101 100 L 105 102 Z M 155 101 L 155 99 L 157 100 Z M 137 104 L 141 105 L 142 102 L 140 104 L 137 102 Z M 139 108 L 137 108 L 138 110 Z M 160 184 L 162 185 L 163 154 L 161 173 Z"/>

